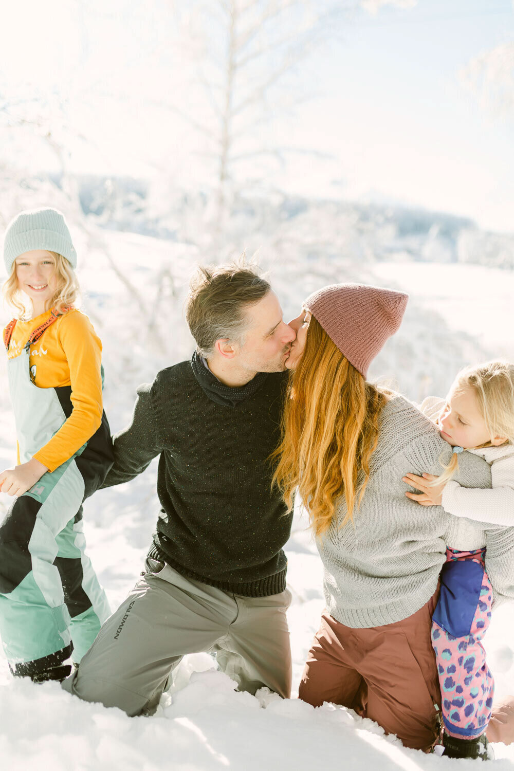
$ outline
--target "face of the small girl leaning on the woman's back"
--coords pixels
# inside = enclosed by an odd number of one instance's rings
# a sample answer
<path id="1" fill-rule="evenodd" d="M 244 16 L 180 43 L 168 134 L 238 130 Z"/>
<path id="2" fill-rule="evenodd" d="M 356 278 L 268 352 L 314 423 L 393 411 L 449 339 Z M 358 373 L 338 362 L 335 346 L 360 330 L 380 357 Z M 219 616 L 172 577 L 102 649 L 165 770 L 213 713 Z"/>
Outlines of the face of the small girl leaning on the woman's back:
<path id="1" fill-rule="evenodd" d="M 506 441 L 504 436 L 491 436 L 489 433 L 475 392 L 469 385 L 452 385 L 438 417 L 438 429 L 445 442 L 464 449 L 483 444 L 498 446 Z"/>

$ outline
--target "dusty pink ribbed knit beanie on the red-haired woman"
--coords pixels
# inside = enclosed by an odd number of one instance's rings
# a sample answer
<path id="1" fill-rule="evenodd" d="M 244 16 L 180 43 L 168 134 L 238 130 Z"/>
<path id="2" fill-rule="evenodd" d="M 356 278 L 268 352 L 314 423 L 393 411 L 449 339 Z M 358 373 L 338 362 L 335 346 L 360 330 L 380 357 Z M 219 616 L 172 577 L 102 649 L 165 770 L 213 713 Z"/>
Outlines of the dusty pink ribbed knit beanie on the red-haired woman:
<path id="1" fill-rule="evenodd" d="M 385 341 L 401 325 L 408 295 L 367 284 L 331 284 L 303 306 L 364 377 Z"/>

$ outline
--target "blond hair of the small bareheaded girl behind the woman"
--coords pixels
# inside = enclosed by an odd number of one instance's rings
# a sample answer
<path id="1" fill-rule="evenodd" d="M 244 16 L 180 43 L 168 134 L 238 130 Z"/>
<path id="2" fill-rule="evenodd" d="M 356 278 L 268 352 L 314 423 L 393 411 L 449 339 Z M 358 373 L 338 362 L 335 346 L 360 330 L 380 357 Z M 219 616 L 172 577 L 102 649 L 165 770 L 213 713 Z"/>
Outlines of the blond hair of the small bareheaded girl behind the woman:
<path id="1" fill-rule="evenodd" d="M 514 444 L 514 364 L 496 359 L 476 367 L 466 367 L 459 372 L 452 388 L 456 394 L 472 389 L 489 436 L 505 436 L 506 444 Z M 491 442 L 486 442 L 466 449 L 492 446 Z M 433 484 L 452 479 L 457 470 L 458 454 L 453 453 L 452 460 Z"/>

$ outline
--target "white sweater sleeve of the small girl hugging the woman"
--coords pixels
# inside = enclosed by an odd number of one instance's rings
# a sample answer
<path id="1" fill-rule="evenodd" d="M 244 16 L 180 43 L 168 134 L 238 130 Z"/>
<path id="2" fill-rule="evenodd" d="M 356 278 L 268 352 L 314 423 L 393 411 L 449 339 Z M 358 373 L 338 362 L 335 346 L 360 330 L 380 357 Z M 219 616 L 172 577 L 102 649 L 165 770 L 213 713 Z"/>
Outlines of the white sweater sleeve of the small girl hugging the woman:
<path id="1" fill-rule="evenodd" d="M 511 527 L 514 525 L 514 463 L 512 457 L 491 465 L 492 488 L 461 487 L 450 480 L 442 491 L 442 507 L 455 517 Z"/>

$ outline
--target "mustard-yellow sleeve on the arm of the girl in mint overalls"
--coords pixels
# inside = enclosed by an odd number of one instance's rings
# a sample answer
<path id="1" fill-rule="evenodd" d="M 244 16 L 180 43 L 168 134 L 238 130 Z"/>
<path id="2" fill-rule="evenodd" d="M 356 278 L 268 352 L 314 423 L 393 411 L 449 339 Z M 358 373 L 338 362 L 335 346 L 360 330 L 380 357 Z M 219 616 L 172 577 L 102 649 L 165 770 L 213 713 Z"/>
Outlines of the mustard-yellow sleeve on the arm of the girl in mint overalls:
<path id="1" fill-rule="evenodd" d="M 69 366 L 72 412 L 34 455 L 50 471 L 69 460 L 102 423 L 102 343 L 89 318 L 69 311 L 59 323 L 58 338 Z"/>

